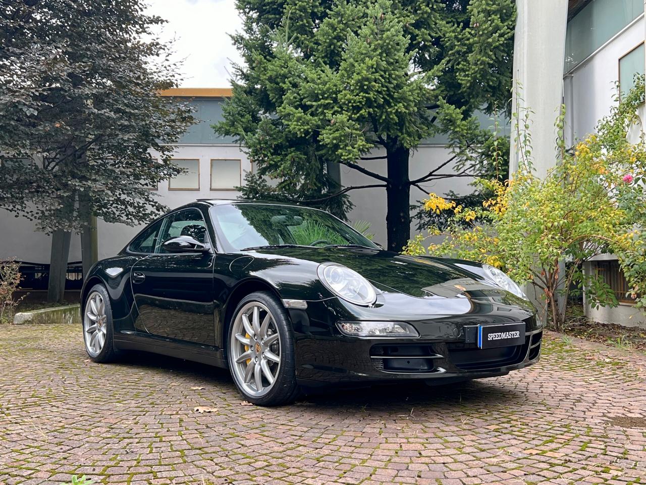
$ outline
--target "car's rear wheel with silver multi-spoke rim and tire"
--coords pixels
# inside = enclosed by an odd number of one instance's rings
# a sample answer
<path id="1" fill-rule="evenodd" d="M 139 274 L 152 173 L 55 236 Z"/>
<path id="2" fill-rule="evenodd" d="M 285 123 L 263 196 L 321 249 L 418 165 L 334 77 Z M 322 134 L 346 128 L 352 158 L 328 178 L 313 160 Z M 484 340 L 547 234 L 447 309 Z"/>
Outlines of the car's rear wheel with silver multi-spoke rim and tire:
<path id="1" fill-rule="evenodd" d="M 103 285 L 94 285 L 83 309 L 83 341 L 85 350 L 95 362 L 109 362 L 116 358 L 114 327 L 110 297 Z"/>

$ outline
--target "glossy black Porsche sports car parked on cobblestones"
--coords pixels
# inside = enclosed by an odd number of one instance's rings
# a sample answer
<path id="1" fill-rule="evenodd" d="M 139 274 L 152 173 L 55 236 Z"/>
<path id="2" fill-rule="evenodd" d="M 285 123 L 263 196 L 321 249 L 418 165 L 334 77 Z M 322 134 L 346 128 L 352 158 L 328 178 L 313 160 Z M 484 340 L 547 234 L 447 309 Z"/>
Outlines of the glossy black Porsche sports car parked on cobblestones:
<path id="1" fill-rule="evenodd" d="M 90 270 L 90 358 L 158 352 L 228 367 L 255 404 L 302 386 L 502 376 L 535 363 L 542 325 L 480 263 L 381 250 L 325 211 L 198 200 Z"/>

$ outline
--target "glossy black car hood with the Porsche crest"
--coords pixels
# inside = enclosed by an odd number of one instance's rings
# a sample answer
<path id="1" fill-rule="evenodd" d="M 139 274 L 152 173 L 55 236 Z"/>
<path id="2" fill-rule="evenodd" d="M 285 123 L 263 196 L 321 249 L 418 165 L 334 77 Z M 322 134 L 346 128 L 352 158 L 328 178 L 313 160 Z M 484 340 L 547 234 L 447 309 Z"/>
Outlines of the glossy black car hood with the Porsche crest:
<path id="1" fill-rule="evenodd" d="M 370 248 L 278 248 L 256 253 L 312 263 L 339 263 L 369 279 L 382 292 L 414 297 L 501 297 L 508 292 L 487 283 L 479 263 L 426 256 L 408 256 Z"/>

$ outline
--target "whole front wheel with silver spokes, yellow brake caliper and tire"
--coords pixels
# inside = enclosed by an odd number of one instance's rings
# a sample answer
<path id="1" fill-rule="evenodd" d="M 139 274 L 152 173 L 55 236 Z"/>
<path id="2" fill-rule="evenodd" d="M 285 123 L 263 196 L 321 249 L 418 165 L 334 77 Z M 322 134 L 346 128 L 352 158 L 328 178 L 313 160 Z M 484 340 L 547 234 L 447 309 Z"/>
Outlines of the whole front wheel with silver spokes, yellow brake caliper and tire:
<path id="1" fill-rule="evenodd" d="M 229 325 L 229 369 L 245 399 L 253 404 L 287 404 L 298 393 L 294 341 L 289 316 L 270 293 L 242 299 Z"/>

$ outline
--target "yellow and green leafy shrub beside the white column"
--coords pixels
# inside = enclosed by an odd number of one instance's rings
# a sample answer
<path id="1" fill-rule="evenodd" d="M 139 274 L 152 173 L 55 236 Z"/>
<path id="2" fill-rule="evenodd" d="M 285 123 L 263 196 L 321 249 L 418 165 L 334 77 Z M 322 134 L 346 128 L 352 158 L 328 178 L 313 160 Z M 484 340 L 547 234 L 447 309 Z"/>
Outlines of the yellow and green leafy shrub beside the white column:
<path id="1" fill-rule="evenodd" d="M 428 236 L 409 241 L 404 253 L 428 252 L 501 268 L 517 283 L 536 287 L 557 330 L 565 324 L 572 286 L 581 288 L 594 305 L 617 305 L 601 278 L 581 270 L 594 256 L 614 253 L 629 294 L 644 310 L 646 144 L 637 114 L 643 102 L 641 78 L 599 122 L 596 133 L 571 149 L 562 137 L 557 141 L 557 164 L 545 178 L 534 174 L 530 150 L 521 147 L 525 156 L 509 180 L 475 182 L 494 194 L 481 208 L 465 211 L 452 200 L 430 194 L 424 200 L 426 210 L 452 211 L 448 229 L 430 228 Z M 561 113 L 556 123 L 561 134 L 563 118 Z M 516 139 L 522 141 L 523 136 Z M 559 294 L 565 297 L 560 307 Z"/>

